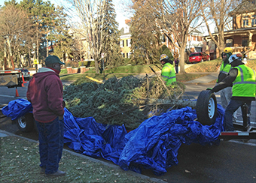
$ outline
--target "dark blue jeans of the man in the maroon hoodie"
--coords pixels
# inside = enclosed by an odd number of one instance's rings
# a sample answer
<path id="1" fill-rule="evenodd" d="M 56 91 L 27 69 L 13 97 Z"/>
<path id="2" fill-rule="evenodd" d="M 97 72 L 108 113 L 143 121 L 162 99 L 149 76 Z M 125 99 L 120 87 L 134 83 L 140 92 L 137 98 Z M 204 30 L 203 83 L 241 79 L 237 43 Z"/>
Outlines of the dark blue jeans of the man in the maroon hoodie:
<path id="1" fill-rule="evenodd" d="M 54 173 L 59 168 L 64 139 L 64 121 L 59 117 L 48 123 L 35 121 L 38 127 L 40 166 L 45 173 Z"/>

